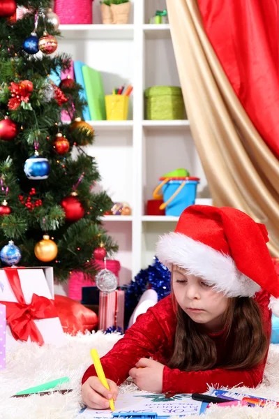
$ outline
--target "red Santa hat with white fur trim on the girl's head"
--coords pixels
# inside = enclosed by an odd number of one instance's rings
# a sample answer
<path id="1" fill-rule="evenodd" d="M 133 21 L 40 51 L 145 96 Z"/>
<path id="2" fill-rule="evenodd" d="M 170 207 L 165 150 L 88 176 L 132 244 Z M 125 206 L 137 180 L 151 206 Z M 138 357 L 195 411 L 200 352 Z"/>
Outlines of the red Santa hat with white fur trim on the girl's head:
<path id="1" fill-rule="evenodd" d="M 271 294 L 269 308 L 279 317 L 279 278 L 264 224 L 231 207 L 191 205 L 174 233 L 160 237 L 159 260 L 179 265 L 227 297 L 253 297 L 261 288 Z"/>

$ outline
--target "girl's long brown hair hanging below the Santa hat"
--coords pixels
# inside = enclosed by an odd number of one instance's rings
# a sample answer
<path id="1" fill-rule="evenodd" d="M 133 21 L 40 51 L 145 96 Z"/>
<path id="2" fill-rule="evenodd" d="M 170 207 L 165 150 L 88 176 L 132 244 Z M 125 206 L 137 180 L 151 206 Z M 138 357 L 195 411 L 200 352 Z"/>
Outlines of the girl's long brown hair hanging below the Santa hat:
<path id="1" fill-rule="evenodd" d="M 174 302 L 175 304 L 175 302 Z M 225 369 L 249 369 L 261 362 L 269 347 L 264 333 L 259 305 L 250 297 L 229 298 L 229 306 L 223 315 L 226 337 L 232 347 L 226 362 L 217 364 L 216 346 L 202 325 L 195 323 L 176 303 L 176 335 L 174 353 L 168 367 L 181 371 L 204 371 L 213 367 Z"/>

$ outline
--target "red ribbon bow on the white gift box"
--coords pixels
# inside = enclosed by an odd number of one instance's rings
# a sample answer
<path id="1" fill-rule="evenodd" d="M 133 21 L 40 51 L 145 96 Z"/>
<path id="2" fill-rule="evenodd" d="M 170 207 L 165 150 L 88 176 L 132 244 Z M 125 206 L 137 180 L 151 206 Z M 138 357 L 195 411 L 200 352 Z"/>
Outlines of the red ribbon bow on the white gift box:
<path id="1" fill-rule="evenodd" d="M 18 302 L 0 301 L 6 305 L 7 323 L 10 326 L 13 337 L 27 341 L 30 337 L 32 342 L 44 344 L 43 336 L 38 330 L 34 319 L 57 317 L 54 301 L 47 297 L 33 294 L 30 304 L 27 304 L 22 293 L 20 277 L 17 269 L 5 268 L 8 281 Z"/>

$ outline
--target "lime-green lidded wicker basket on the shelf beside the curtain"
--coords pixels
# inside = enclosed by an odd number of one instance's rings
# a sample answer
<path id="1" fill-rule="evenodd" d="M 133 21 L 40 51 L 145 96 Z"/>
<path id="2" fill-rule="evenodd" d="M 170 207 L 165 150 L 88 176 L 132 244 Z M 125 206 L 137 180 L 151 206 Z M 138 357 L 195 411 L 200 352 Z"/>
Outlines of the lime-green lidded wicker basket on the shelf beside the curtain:
<path id="1" fill-rule="evenodd" d="M 181 87 L 154 86 L 144 92 L 146 119 L 185 119 Z"/>

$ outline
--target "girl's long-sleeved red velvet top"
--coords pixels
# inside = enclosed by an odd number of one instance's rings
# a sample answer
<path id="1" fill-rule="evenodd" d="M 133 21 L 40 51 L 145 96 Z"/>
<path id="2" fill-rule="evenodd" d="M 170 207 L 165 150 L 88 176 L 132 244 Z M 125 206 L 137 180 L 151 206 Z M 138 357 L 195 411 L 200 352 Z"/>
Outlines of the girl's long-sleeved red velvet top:
<path id="1" fill-rule="evenodd" d="M 255 300 L 262 309 L 262 322 L 268 339 L 271 336 L 271 311 L 269 305 L 269 293 L 260 291 Z M 150 358 L 166 365 L 172 356 L 174 348 L 174 335 L 176 331 L 176 314 L 172 306 L 171 296 L 164 298 L 145 314 L 137 318 L 135 324 L 126 331 L 107 353 L 101 362 L 105 376 L 117 385 L 128 378 L 128 372 L 135 367 L 140 358 Z M 225 339 L 225 332 L 209 334 L 215 341 L 218 364 L 229 360 L 229 353 L 239 344 L 234 330 Z M 267 352 L 264 360 L 251 369 L 232 370 L 213 368 L 206 371 L 183 372 L 179 369 L 170 369 L 165 366 L 163 370 L 163 393 L 191 393 L 205 392 L 207 385 L 245 385 L 255 387 L 262 381 L 264 367 L 266 365 Z M 82 383 L 90 376 L 96 376 L 96 371 L 91 365 L 85 372 Z"/>

